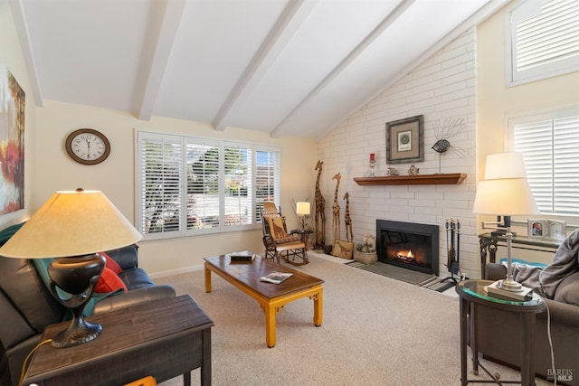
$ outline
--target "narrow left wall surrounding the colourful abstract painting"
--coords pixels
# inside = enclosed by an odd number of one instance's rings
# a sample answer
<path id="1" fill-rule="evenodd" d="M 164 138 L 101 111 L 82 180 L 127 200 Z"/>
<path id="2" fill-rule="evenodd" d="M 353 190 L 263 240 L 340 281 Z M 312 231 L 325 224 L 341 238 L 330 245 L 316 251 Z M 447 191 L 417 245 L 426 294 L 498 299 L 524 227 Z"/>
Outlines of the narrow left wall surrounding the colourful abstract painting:
<path id="1" fill-rule="evenodd" d="M 36 109 L 34 97 L 24 65 L 24 57 L 18 42 L 14 18 L 8 0 L 0 0 L 0 61 L 2 61 L 26 94 L 26 116 L 24 129 L 24 210 L 0 216 L 0 229 L 22 222 L 33 211 L 34 196 L 34 133 Z"/>

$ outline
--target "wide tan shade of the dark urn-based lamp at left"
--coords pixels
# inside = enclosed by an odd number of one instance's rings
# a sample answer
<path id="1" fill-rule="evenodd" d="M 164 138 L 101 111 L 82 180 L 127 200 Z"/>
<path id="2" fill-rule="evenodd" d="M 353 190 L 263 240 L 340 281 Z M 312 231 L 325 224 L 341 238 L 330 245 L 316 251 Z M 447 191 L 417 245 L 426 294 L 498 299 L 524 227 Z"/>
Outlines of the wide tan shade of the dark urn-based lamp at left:
<path id="1" fill-rule="evenodd" d="M 87 255 L 133 244 L 141 234 L 99 191 L 56 192 L 0 248 L 20 259 Z"/>

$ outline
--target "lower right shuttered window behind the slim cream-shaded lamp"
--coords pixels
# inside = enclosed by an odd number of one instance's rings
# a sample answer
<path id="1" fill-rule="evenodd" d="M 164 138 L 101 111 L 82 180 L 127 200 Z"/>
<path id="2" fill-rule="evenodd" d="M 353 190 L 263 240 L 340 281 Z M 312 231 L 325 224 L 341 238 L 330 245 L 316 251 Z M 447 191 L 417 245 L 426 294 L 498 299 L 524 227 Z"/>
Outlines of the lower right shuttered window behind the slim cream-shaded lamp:
<path id="1" fill-rule="evenodd" d="M 508 119 L 541 214 L 579 216 L 579 109 Z"/>

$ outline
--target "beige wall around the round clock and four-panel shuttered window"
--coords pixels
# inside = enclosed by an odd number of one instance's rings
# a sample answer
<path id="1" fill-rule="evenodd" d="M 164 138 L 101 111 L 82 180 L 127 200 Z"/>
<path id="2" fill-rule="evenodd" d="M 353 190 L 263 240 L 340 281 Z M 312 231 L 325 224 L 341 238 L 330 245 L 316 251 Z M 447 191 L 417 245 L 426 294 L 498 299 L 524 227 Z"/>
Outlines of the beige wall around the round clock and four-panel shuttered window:
<path id="1" fill-rule="evenodd" d="M 135 219 L 135 129 L 242 140 L 281 146 L 281 208 L 288 218 L 288 226 L 295 227 L 297 219 L 291 202 L 313 197 L 314 167 L 317 146 L 313 140 L 297 137 L 272 138 L 252 130 L 228 127 L 215 131 L 198 122 L 153 118 L 141 121 L 133 115 L 105 108 L 90 108 L 62 102 L 45 101 L 38 108 L 36 130 L 37 178 L 34 206 L 40 206 L 57 190 L 78 187 L 96 189 L 125 216 Z M 71 131 L 90 127 L 105 134 L 110 141 L 109 158 L 100 165 L 81 165 L 71 160 L 64 149 L 64 141 Z M 256 231 L 227 232 L 211 236 L 196 236 L 164 241 L 141 241 L 139 264 L 151 274 L 198 267 L 203 258 L 233 250 L 262 251 L 261 228 Z"/>

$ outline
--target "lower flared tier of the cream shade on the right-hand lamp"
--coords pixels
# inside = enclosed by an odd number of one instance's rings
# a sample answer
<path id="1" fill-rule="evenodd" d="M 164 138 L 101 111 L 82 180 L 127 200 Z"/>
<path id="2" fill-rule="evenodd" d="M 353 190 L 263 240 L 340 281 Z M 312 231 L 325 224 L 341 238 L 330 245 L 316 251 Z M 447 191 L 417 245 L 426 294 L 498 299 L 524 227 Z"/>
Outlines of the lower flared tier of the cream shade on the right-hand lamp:
<path id="1" fill-rule="evenodd" d="M 516 216 L 539 210 L 526 178 L 503 178 L 479 181 L 472 212 Z"/>

